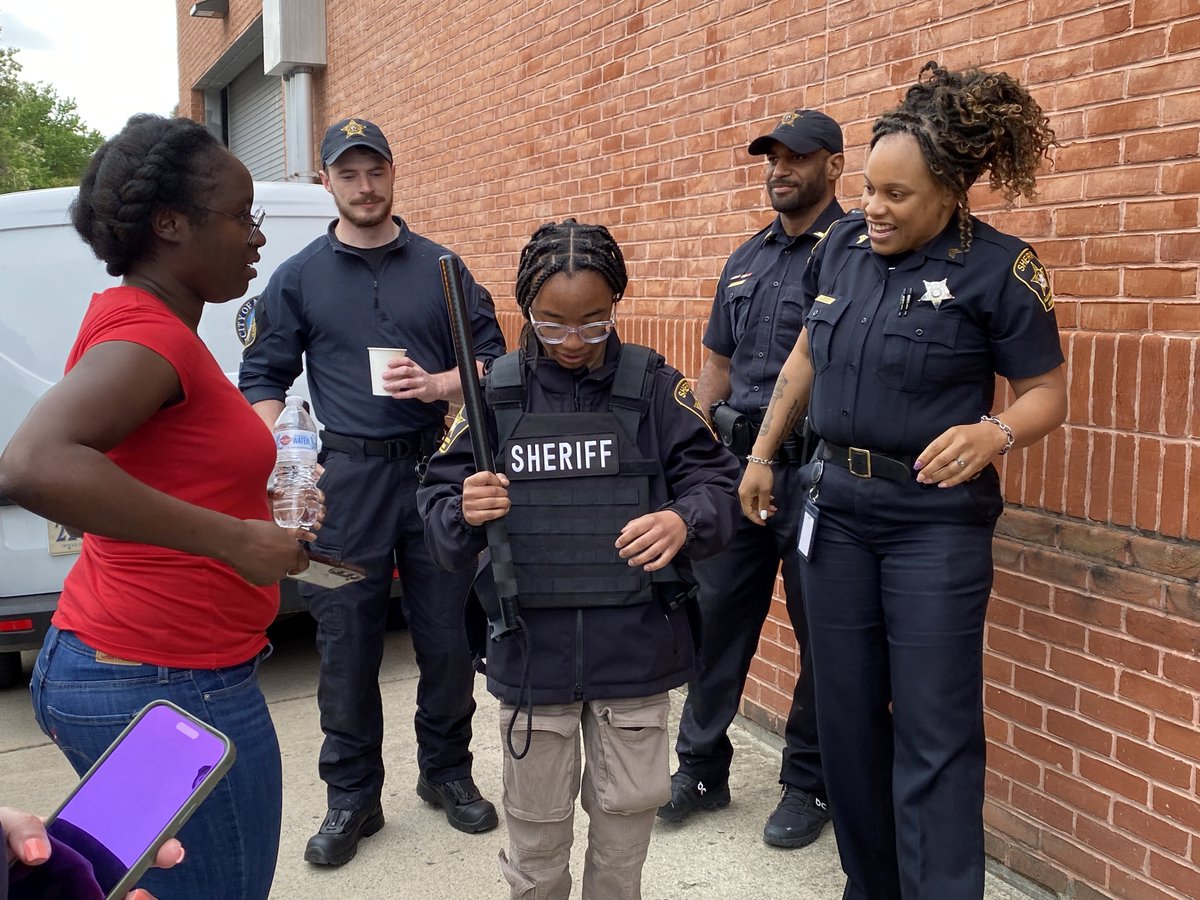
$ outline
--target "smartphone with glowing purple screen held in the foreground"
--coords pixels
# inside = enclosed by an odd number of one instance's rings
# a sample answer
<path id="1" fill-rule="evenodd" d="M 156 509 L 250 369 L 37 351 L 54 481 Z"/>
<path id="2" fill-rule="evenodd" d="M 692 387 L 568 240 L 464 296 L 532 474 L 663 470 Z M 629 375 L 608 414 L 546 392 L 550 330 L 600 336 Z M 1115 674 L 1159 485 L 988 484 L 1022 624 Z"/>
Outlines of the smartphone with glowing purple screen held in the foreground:
<path id="1" fill-rule="evenodd" d="M 224 745 L 170 707 L 154 707 L 50 823 L 92 865 L 107 894 L 224 755 Z"/>

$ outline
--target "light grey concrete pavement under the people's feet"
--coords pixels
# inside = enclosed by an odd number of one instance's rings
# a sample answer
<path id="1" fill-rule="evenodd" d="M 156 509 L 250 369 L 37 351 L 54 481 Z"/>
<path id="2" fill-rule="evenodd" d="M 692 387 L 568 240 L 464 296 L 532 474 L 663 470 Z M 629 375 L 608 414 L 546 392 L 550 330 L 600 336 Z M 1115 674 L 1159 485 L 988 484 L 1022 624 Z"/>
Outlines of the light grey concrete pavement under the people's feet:
<path id="1" fill-rule="evenodd" d="M 317 655 L 311 623 L 300 617 L 272 632 L 276 654 L 263 666 L 262 682 L 283 752 L 283 833 L 272 900 L 500 900 L 508 896 L 497 865 L 505 845 L 503 821 L 488 834 L 466 835 L 450 828 L 439 809 L 418 799 L 412 718 L 416 665 L 406 631 L 389 635 L 382 676 L 388 722 L 386 827 L 359 846 L 341 869 L 302 860 L 304 846 L 325 812 L 317 776 L 320 730 L 317 725 Z M 25 654 L 28 677 L 32 654 Z M 478 679 L 475 698 L 475 781 L 499 802 L 500 730 L 496 703 Z M 672 733 L 682 697 L 676 697 Z M 744 722 L 734 725 L 736 748 L 725 810 L 685 824 L 655 824 L 646 864 L 646 900 L 838 900 L 845 883 L 833 829 L 803 850 L 776 850 L 762 842 L 762 827 L 778 799 L 779 739 Z M 672 755 L 673 762 L 673 755 Z M 0 692 L 0 802 L 41 814 L 50 811 L 74 782 L 74 773 L 34 722 L 29 695 Z M 503 816 L 502 816 L 503 820 Z M 578 880 L 587 815 L 576 816 L 572 871 Z M 1025 894 L 988 877 L 986 900 L 1022 900 Z M 169 900 L 161 898 L 160 900 Z"/>

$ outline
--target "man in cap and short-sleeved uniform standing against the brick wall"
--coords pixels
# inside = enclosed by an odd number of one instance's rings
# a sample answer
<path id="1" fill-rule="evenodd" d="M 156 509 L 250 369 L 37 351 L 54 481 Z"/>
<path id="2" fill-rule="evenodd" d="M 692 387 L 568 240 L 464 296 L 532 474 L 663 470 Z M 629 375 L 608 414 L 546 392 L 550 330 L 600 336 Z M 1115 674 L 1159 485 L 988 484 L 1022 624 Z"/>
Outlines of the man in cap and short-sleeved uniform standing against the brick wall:
<path id="1" fill-rule="evenodd" d="M 748 461 L 746 455 L 803 324 L 800 276 L 809 253 L 842 215 L 835 188 L 845 157 L 838 122 L 811 109 L 784 115 L 774 131 L 750 143 L 749 151 L 767 157 L 767 196 L 779 215 L 738 247 L 721 272 L 704 332 L 709 353 L 696 384 L 696 401 L 710 410 L 714 427 L 742 460 L 743 472 L 748 464 L 774 467 L 775 496 L 787 502 L 770 510 L 761 524 L 743 518 L 722 553 L 696 560 L 701 650 L 679 722 L 679 769 L 671 778 L 671 800 L 659 816 L 682 822 L 695 811 L 730 803 L 733 746 L 726 731 L 738 712 L 782 563 L 800 677 L 785 731 L 782 796 L 767 820 L 763 840 L 776 847 L 803 847 L 829 822 L 797 551 L 802 506 L 796 500 L 800 492 L 797 475 L 809 454 L 800 436 L 793 434 L 774 460 Z"/>

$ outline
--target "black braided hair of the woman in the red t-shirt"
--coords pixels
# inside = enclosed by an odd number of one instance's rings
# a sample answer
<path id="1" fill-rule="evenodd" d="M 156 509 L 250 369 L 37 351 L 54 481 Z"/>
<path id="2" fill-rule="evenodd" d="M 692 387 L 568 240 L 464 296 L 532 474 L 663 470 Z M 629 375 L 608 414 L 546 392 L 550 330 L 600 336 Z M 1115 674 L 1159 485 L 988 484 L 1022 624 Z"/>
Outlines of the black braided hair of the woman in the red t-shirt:
<path id="1" fill-rule="evenodd" d="M 154 238 L 151 217 L 168 208 L 203 221 L 221 144 L 199 122 L 132 116 L 92 155 L 71 204 L 71 223 L 113 276 L 128 272 Z"/>

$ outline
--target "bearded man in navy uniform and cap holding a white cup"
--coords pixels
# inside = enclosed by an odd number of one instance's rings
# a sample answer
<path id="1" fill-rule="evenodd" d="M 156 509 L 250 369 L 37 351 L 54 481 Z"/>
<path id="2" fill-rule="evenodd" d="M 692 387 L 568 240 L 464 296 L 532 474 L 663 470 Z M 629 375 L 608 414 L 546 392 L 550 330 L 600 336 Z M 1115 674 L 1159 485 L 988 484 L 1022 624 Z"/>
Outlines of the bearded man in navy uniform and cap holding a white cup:
<path id="1" fill-rule="evenodd" d="M 317 703 L 325 742 L 320 776 L 329 812 L 305 859 L 342 865 L 384 823 L 379 665 L 392 569 L 400 571 L 420 680 L 416 793 L 455 828 L 486 832 L 496 808 L 470 774 L 474 670 L 462 611 L 472 572 L 448 574 L 430 557 L 416 487 L 460 401 L 438 257 L 449 253 L 394 216 L 391 148 L 366 119 L 325 132 L 320 181 L 338 218 L 271 277 L 254 310 L 239 388 L 269 426 L 301 372 L 320 433 L 326 515 L 316 552 L 367 569 L 334 590 L 301 586 L 317 619 Z M 504 353 L 492 298 L 460 263 L 482 365 Z M 402 347 L 372 394 L 367 347 Z M 390 395 L 390 396 L 389 396 Z"/>

